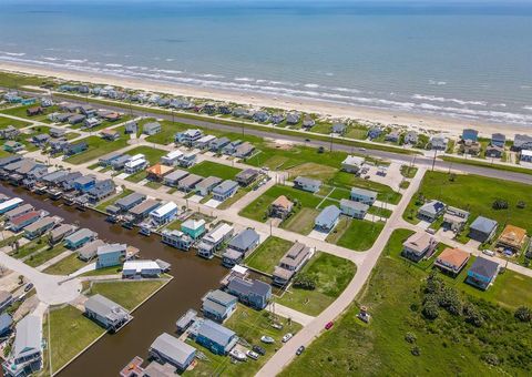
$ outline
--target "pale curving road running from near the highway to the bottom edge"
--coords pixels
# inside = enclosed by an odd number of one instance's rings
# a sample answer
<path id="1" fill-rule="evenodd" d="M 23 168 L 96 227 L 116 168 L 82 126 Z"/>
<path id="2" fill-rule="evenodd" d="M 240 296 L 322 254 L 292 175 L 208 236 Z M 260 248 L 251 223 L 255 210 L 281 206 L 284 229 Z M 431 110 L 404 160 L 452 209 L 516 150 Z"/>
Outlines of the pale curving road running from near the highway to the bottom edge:
<path id="1" fill-rule="evenodd" d="M 401 215 L 405 212 L 412 195 L 417 192 L 421 179 L 424 175 L 424 169 L 420 169 L 416 177 L 411 181 L 410 186 L 403 193 L 401 201 L 393 212 L 390 220 L 386 223 L 385 228 L 375 242 L 374 246 L 366 253 L 364 262 L 358 266 L 355 277 L 349 283 L 341 295 L 329 305 L 321 314 L 305 326 L 294 338 L 286 343 L 258 371 L 257 376 L 270 377 L 275 376 L 287 366 L 296 356 L 299 346 L 308 346 L 324 330 L 325 325 L 336 319 L 352 303 L 360 289 L 369 278 L 377 261 L 388 243 L 388 238 L 393 230 L 400 227 Z"/>

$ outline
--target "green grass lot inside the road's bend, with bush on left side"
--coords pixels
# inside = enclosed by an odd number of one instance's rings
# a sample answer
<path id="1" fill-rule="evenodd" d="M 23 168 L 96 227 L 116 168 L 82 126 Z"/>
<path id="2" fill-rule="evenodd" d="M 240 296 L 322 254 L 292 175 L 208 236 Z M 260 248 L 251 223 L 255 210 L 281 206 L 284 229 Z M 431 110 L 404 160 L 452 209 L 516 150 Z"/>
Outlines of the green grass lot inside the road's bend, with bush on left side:
<path id="1" fill-rule="evenodd" d="M 335 255 L 318 253 L 299 272 L 316 282 L 316 289 L 294 285 L 275 302 L 298 312 L 317 316 L 338 297 L 355 276 L 357 266 Z"/>

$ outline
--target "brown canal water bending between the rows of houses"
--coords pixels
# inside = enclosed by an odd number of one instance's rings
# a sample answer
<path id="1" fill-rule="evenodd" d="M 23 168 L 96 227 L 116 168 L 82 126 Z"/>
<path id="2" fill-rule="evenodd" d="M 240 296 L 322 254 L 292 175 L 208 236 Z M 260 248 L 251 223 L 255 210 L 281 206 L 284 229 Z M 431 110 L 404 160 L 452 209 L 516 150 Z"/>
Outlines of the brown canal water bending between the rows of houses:
<path id="1" fill-rule="evenodd" d="M 117 334 L 105 335 L 63 369 L 59 374 L 61 377 L 114 377 L 134 356 L 145 359 L 152 342 L 163 332 L 173 334 L 177 318 L 188 308 L 198 309 L 203 295 L 217 287 L 227 273 L 217 258 L 206 261 L 194 253 L 165 246 L 158 236 L 144 237 L 136 231 L 110 224 L 102 214 L 94 211 L 80 212 L 64 205 L 62 201 L 54 202 L 6 183 L 0 184 L 0 193 L 19 196 L 35 208 L 63 217 L 65 223 L 91 228 L 103 241 L 139 247 L 143 258 L 161 258 L 172 264 L 172 282 L 136 309 L 133 313 L 134 319 L 127 326 Z"/>

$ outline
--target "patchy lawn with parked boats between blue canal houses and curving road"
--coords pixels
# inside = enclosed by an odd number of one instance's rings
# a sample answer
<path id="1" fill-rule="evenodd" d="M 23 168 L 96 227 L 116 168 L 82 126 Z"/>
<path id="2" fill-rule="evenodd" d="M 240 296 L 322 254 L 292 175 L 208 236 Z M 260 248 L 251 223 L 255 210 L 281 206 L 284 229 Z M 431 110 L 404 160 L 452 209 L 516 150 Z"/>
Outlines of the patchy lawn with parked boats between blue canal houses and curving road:
<path id="1" fill-rule="evenodd" d="M 231 358 L 212 354 L 206 348 L 196 343 L 190 344 L 205 354 L 208 361 L 198 360 L 197 366 L 193 370 L 185 371 L 185 376 L 254 376 L 258 369 L 274 355 L 275 350 L 280 347 L 280 339 L 287 333 L 296 334 L 301 326 L 286 318 L 277 317 L 276 323 L 283 325 L 283 329 L 272 327 L 274 318 L 265 310 L 257 312 L 244 305 L 238 304 L 237 310 L 224 323 L 224 326 L 234 330 L 241 338 L 253 345 L 260 345 L 266 355 L 260 356 L 258 360 L 248 359 L 246 363 L 233 364 Z M 264 344 L 260 337 L 267 335 L 273 337 L 275 344 Z"/>

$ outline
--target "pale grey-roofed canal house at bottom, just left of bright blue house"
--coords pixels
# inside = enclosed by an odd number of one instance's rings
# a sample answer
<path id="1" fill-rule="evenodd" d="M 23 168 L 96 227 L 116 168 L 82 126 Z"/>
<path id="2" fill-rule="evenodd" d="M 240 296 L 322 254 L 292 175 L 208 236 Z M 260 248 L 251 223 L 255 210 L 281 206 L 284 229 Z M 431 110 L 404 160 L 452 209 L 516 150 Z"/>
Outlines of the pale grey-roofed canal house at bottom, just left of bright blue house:
<path id="1" fill-rule="evenodd" d="M 163 333 L 152 343 L 149 354 L 150 358 L 157 360 L 160 364 L 173 365 L 180 373 L 183 373 L 194 361 L 196 348 L 167 333 Z M 162 377 L 164 375 L 144 374 L 144 376 Z"/>

